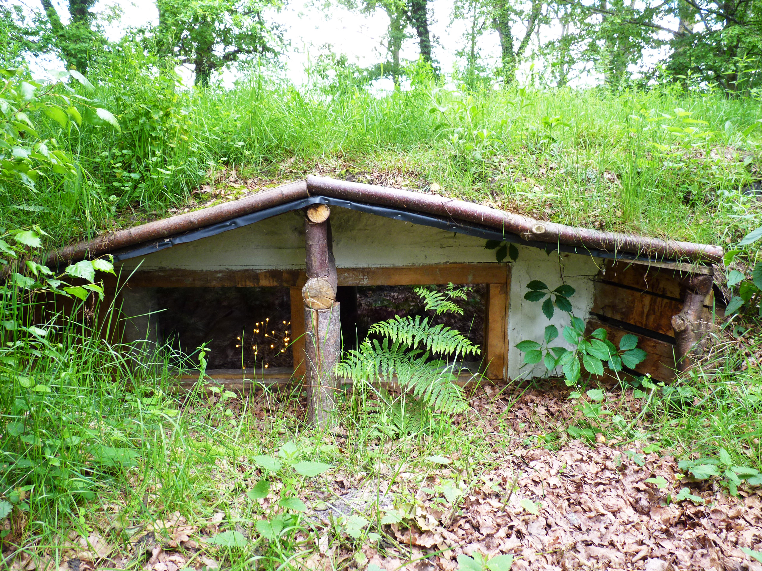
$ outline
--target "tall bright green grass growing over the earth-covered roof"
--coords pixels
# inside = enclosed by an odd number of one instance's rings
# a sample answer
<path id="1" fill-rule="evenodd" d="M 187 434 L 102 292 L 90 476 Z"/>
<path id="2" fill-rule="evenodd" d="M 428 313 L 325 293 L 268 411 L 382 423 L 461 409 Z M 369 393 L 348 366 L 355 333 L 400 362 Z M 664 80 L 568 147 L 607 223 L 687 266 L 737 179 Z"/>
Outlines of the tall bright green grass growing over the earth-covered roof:
<path id="1" fill-rule="evenodd" d="M 129 47 L 91 79 L 94 93 L 78 89 L 106 102 L 121 132 L 62 132 L 41 118 L 82 176 L 32 196 L 8 189 L 2 224 L 40 223 L 59 241 L 134 225 L 191 202 L 223 167 L 267 180 L 381 173 L 544 219 L 693 241 L 738 238 L 759 212 L 742 193 L 760 168 L 759 131 L 744 134 L 760 118 L 751 98 L 674 85 L 469 93 L 434 81 L 377 95 L 341 75 L 297 88 L 267 70 L 197 91 Z M 686 128 L 696 132 L 674 132 Z"/>

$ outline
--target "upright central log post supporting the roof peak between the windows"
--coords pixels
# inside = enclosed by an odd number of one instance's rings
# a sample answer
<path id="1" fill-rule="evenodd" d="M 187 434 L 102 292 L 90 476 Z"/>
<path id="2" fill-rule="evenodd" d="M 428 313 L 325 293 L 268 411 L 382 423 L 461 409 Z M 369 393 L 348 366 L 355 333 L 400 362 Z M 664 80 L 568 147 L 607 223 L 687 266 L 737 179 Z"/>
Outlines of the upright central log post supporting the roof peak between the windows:
<path id="1" fill-rule="evenodd" d="M 338 279 L 331 238 L 331 209 L 306 210 L 304 238 L 307 282 L 302 288 L 305 326 L 305 385 L 309 423 L 324 428 L 335 408 L 334 367 L 341 356 L 341 317 L 336 301 Z"/>

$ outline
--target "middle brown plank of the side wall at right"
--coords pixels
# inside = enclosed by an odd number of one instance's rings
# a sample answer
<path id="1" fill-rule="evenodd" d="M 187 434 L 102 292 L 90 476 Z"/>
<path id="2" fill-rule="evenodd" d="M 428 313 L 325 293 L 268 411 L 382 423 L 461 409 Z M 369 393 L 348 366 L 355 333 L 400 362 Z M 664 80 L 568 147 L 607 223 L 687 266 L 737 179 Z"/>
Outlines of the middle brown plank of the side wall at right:
<path id="1" fill-rule="evenodd" d="M 594 288 L 593 313 L 674 337 L 670 320 L 683 308 L 681 301 L 606 282 L 595 282 Z"/>

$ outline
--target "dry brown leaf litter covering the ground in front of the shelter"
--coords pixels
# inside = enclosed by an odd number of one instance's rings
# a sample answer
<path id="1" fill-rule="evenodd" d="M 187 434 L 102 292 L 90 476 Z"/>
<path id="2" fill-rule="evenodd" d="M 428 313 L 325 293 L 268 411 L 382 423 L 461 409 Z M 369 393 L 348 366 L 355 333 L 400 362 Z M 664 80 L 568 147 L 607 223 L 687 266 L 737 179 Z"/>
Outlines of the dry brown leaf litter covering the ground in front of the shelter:
<path id="1" fill-rule="evenodd" d="M 299 489 L 308 525 L 296 535 L 301 554 L 292 568 L 458 569 L 462 554 L 512 554 L 512 569 L 762 571 L 743 550 L 762 550 L 758 488 L 741 488 L 733 497 L 717 483 L 687 479 L 671 455 L 643 451 L 645 442 L 603 442 L 600 433 L 598 442 L 569 439 L 565 426 L 577 413 L 567 397 L 568 391 L 553 388 L 479 388 L 472 399 L 478 414 L 452 420 L 468 435 L 467 445 L 450 453 L 444 446 L 434 456 L 441 443 L 431 437 L 383 446 L 376 440 L 367 444 L 370 461 L 353 468 L 341 458 L 351 455 L 354 434 L 339 426 L 323 435 L 318 444 L 335 449 L 334 468 Z M 239 407 L 251 413 L 248 430 L 261 435 L 284 416 L 296 426 L 305 412 L 293 398 L 278 402 L 258 393 L 247 400 Z M 283 441 L 293 437 L 275 432 Z M 225 498 L 224 505 L 214 502 L 211 517 L 174 512 L 130 526 L 120 522 L 120 506 L 105 505 L 88 538 L 72 533 L 64 541 L 59 568 L 228 566 L 220 534 L 255 541 L 255 521 L 277 505 L 282 483 L 255 500 L 252 512 L 246 492 L 263 474 L 250 458 L 217 457 L 210 475 Z M 670 502 L 685 486 L 696 502 Z M 376 528 L 380 541 L 362 545 L 337 523 L 354 517 L 362 527 L 390 514 L 399 521 Z M 51 563 L 22 554 L 13 568 L 50 569 Z"/>

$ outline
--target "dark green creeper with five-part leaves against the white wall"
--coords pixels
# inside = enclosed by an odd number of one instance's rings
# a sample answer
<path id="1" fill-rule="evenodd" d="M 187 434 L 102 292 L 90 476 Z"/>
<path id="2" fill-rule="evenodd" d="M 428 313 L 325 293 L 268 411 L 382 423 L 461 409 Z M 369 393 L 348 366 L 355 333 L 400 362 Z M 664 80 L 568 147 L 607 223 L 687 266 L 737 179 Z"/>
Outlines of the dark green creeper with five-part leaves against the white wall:
<path id="1" fill-rule="evenodd" d="M 615 346 L 609 339 L 607 330 L 598 328 L 590 335 L 585 335 L 584 321 L 572 313 L 569 298 L 575 294 L 571 285 L 563 284 L 555 289 L 539 280 L 527 284 L 529 291 L 524 294 L 527 301 L 543 301 L 543 314 L 552 319 L 555 309 L 564 311 L 570 317 L 571 323 L 563 328 L 564 339 L 573 347 L 569 350 L 562 346 L 550 346 L 559 337 L 559 329 L 555 325 L 545 328 L 542 342 L 526 340 L 517 344 L 517 349 L 524 353 L 524 365 L 536 365 L 542 362 L 552 372 L 561 367 L 564 380 L 568 386 L 576 386 L 582 370 L 591 375 L 604 374 L 604 362 L 615 374 L 623 368 L 635 368 L 646 357 L 643 349 L 638 349 L 638 337 L 626 334 Z"/>

